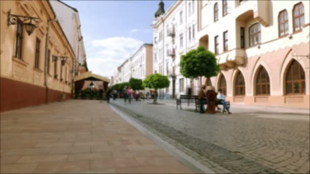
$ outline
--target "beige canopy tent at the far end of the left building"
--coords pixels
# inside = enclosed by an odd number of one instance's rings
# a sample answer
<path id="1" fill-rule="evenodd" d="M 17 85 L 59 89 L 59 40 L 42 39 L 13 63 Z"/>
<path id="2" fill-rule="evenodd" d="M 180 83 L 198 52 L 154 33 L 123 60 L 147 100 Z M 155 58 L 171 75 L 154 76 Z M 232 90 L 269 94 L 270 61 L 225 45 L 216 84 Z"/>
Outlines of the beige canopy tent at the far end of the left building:
<path id="1" fill-rule="evenodd" d="M 100 89 L 107 90 L 110 79 L 98 74 L 93 74 L 91 71 L 75 76 L 74 79 L 75 91 L 77 90 L 87 90 L 92 84 L 94 90 L 98 91 Z"/>

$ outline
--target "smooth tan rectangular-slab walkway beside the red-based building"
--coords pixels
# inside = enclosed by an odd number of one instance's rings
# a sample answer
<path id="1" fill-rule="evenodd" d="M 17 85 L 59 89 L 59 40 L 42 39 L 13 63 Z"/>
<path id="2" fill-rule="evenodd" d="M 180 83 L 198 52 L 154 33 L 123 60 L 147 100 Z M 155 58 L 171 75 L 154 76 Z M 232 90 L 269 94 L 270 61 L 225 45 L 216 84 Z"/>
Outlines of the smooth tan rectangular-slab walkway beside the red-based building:
<path id="1" fill-rule="evenodd" d="M 1 113 L 1 173 L 191 173 L 105 103 Z"/>

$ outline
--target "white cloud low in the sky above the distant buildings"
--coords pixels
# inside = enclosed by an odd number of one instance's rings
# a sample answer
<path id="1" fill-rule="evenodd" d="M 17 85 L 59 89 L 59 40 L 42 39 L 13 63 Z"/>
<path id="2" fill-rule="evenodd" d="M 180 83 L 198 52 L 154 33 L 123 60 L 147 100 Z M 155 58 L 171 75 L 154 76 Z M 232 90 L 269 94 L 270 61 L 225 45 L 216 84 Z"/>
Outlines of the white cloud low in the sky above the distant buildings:
<path id="1" fill-rule="evenodd" d="M 93 55 L 87 57 L 88 68 L 95 74 L 110 78 L 113 71 L 135 53 L 142 44 L 142 41 L 128 37 L 93 40 L 87 49 L 91 50 Z"/>

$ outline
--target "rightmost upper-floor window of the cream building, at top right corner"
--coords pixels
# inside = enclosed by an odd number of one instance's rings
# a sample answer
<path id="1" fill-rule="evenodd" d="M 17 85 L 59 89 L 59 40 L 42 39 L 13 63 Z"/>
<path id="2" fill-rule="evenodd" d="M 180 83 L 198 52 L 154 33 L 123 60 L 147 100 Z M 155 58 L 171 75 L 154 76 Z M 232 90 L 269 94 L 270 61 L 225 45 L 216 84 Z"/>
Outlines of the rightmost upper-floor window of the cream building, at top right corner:
<path id="1" fill-rule="evenodd" d="M 304 25 L 304 9 L 302 3 L 298 3 L 294 6 L 293 24 L 294 24 L 294 32 L 300 31 L 301 27 Z"/>

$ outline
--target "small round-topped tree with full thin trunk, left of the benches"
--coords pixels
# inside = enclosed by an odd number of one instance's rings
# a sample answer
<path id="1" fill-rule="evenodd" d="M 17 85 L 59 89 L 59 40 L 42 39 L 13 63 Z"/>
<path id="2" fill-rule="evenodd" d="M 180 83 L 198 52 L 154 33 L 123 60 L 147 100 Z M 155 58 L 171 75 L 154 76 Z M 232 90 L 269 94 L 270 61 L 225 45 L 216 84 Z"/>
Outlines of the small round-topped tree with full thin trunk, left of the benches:
<path id="1" fill-rule="evenodd" d="M 155 90 L 155 96 L 153 100 L 153 104 L 158 104 L 157 102 L 157 90 L 163 89 L 163 88 L 168 88 L 170 84 L 170 81 L 167 76 L 161 75 L 158 73 L 151 74 L 147 76 L 143 80 L 143 85 L 146 88 L 152 88 Z"/>

